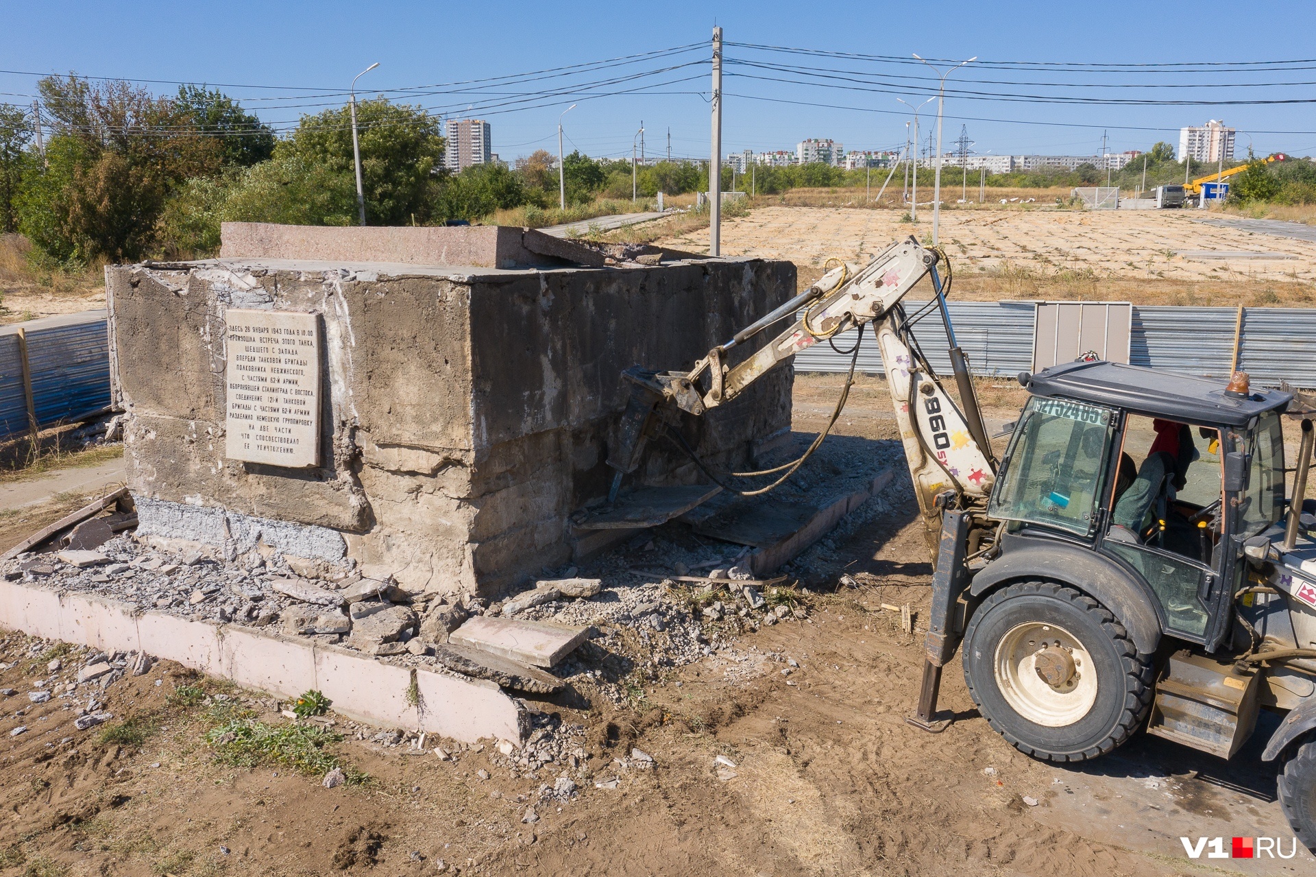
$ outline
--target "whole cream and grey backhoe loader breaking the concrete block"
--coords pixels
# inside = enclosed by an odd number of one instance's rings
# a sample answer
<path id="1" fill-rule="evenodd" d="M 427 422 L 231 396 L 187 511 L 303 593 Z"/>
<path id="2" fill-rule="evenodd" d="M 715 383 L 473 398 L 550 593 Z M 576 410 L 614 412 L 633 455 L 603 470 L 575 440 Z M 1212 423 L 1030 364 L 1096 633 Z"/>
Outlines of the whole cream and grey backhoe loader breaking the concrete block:
<path id="1" fill-rule="evenodd" d="M 904 299 L 924 278 L 933 298 L 909 312 Z M 628 369 L 609 502 L 663 435 L 725 490 L 753 495 L 790 478 L 844 408 L 858 345 L 828 428 L 796 461 L 719 473 L 680 441 L 682 419 L 871 325 L 934 561 L 908 720 L 948 726 L 937 698 L 957 654 L 982 716 L 1044 761 L 1100 758 L 1138 733 L 1232 758 L 1274 711 L 1283 719 L 1263 758 L 1282 762 L 1279 802 L 1316 851 L 1316 502 L 1303 499 L 1312 400 L 1253 387 L 1244 373 L 1220 381 L 1084 357 L 1019 375 L 1028 402 L 998 460 L 946 308 L 951 283 L 946 254 L 911 237 L 866 266 L 829 270 L 690 369 Z M 950 375 L 913 337 L 924 319 L 945 325 Z M 1286 421 L 1300 433 L 1288 490 Z"/>

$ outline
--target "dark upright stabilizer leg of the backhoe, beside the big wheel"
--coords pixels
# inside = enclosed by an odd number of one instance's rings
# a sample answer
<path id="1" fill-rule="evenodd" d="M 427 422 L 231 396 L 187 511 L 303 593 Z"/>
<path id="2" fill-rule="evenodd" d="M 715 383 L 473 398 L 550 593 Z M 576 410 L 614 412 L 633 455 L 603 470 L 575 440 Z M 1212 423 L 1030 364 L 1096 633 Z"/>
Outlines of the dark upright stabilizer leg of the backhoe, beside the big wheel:
<path id="1" fill-rule="evenodd" d="M 938 504 L 949 496 L 938 496 Z M 925 662 L 923 666 L 923 690 L 919 693 L 919 711 L 907 718 L 909 724 L 932 731 L 945 731 L 950 719 L 936 719 L 937 694 L 941 690 L 941 668 L 955 654 L 959 645 L 958 608 L 959 597 L 969 586 L 969 568 L 965 557 L 969 550 L 967 511 L 945 510 L 941 516 L 941 544 L 937 550 L 937 569 L 932 574 L 932 612 L 928 618 L 928 639 L 925 640 Z"/>

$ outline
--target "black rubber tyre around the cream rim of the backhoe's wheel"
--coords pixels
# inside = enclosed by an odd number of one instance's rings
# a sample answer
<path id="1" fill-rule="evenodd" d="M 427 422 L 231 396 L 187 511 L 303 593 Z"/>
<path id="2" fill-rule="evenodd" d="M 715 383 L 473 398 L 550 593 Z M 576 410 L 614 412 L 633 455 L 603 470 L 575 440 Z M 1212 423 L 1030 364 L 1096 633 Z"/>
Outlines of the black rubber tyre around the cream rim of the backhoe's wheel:
<path id="1" fill-rule="evenodd" d="M 1001 640 L 1038 623 L 1078 640 L 1090 658 L 1086 670 L 1096 672 L 1091 706 L 1059 727 L 1021 715 L 998 682 Z M 1086 761 L 1115 749 L 1142 723 L 1154 693 L 1152 661 L 1124 625 L 1091 597 L 1054 582 L 1021 582 L 988 597 L 965 631 L 963 662 L 969 693 L 991 727 L 1020 752 L 1049 761 Z"/>

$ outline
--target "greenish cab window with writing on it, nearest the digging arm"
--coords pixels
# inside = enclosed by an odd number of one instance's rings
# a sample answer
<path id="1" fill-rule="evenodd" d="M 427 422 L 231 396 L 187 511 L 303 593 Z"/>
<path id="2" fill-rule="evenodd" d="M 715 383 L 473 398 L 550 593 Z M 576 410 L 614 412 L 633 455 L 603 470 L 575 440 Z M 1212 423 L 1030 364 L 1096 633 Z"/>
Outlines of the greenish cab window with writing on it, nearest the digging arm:
<path id="1" fill-rule="evenodd" d="M 1096 521 L 1115 412 L 1066 399 L 1028 400 L 988 514 L 1087 536 Z"/>

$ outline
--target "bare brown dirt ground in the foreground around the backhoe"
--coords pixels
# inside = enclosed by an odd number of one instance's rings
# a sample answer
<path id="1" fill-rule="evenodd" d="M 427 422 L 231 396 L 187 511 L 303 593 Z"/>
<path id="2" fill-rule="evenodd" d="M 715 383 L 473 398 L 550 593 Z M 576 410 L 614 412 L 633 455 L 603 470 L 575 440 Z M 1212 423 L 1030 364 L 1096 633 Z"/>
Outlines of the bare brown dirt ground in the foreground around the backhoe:
<path id="1" fill-rule="evenodd" d="M 796 429 L 821 425 L 837 381 L 797 382 Z M 988 416 L 1012 417 L 1015 395 L 998 390 Z M 894 442 L 883 396 L 880 382 L 866 379 L 838 432 L 874 448 Z M 1036 762 L 978 716 L 958 661 L 941 699 L 954 724 L 941 735 L 905 724 L 921 631 L 901 632 L 880 604 L 909 603 L 916 627 L 926 610 L 930 565 L 912 503 L 820 558 L 808 583 L 826 589 L 846 571 L 859 587 L 819 595 L 808 622 L 740 641 L 741 654 L 790 656 L 800 665 L 790 676 L 772 661 L 713 654 L 646 686 L 632 708 L 570 694 L 536 702 L 586 724 L 596 777 L 621 777 L 616 789 L 584 784 L 561 810 L 540 806 L 536 823 L 522 815 L 541 781 L 513 778 L 483 753 L 441 762 L 345 741 L 338 751 L 372 781 L 338 789 L 280 766 L 217 765 L 200 740 L 204 711 L 168 695 L 183 682 L 222 689 L 176 666 L 128 677 L 105 695 L 116 720 L 150 716 L 145 740 L 75 736 L 54 701 L 28 703 L 24 691 L 47 670 L 20 660 L 0 672 L 0 686 L 17 690 L 0 701 L 0 873 L 1311 873 L 1305 852 L 1282 864 L 1195 866 L 1183 856 L 1180 835 L 1224 836 L 1227 848 L 1233 835 L 1291 836 L 1255 744 L 1230 764 L 1150 739 L 1091 764 Z M 0 653 L 5 662 L 26 656 L 24 637 L 0 641 Z M 20 723 L 30 731 L 11 737 Z M 632 747 L 653 755 L 654 768 L 613 761 Z M 734 777 L 719 778 L 719 755 L 737 765 Z"/>

